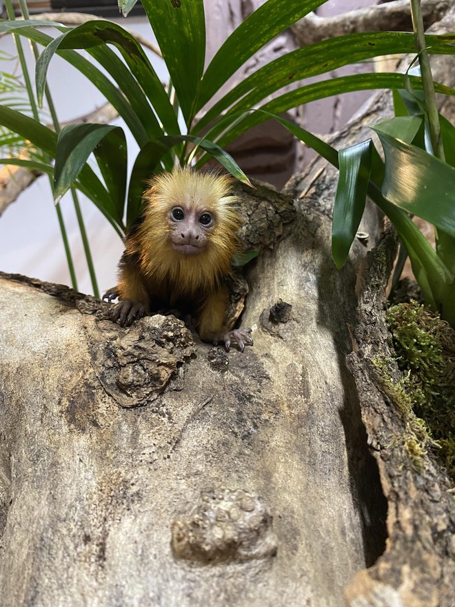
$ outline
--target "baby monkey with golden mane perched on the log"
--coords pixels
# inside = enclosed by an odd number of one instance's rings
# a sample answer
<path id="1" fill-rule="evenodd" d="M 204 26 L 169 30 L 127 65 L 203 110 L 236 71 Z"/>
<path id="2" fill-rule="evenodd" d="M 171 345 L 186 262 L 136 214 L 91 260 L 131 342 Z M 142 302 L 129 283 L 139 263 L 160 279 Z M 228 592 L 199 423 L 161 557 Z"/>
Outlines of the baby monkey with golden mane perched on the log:
<path id="1" fill-rule="evenodd" d="M 110 317 L 122 327 L 146 312 L 179 310 L 196 321 L 203 341 L 225 349 L 253 344 L 250 328 L 226 326 L 232 257 L 239 250 L 240 219 L 227 175 L 174 168 L 145 192 L 142 217 L 125 237 L 119 284 L 103 299 L 119 303 Z"/>

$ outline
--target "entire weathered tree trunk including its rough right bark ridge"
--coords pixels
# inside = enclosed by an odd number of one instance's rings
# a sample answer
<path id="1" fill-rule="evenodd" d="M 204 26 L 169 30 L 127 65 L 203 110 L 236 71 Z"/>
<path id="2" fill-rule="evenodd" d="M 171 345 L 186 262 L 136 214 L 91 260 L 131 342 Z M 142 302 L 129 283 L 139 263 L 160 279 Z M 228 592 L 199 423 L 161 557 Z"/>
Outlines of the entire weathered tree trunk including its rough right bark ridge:
<path id="1" fill-rule="evenodd" d="M 452 604 L 447 477 L 431 452 L 415 466 L 375 364 L 398 377 L 382 312 L 395 237 L 368 208 L 374 249 L 354 242 L 337 272 L 335 177 L 316 161 L 287 195 L 243 190 L 266 245 L 243 354 L 2 275 L 2 607 Z"/>

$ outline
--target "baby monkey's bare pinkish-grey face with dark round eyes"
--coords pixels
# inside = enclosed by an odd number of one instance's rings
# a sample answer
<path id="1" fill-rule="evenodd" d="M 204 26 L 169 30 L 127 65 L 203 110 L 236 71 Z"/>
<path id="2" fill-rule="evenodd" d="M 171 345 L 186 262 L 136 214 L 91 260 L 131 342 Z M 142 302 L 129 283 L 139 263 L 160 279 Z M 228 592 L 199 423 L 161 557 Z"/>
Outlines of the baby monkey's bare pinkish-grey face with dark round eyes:
<path id="1" fill-rule="evenodd" d="M 170 244 L 180 255 L 200 255 L 208 246 L 215 217 L 210 210 L 174 206 L 169 212 Z"/>

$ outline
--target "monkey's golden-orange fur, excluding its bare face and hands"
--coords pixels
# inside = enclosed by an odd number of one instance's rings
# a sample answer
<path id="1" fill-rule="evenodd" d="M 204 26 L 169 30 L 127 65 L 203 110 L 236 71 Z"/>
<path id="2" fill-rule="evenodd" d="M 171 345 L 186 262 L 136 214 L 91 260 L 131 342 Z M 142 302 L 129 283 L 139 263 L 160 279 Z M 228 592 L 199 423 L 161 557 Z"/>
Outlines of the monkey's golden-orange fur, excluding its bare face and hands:
<path id="1" fill-rule="evenodd" d="M 186 168 L 175 168 L 152 180 L 145 192 L 141 226 L 125 240 L 120 299 L 140 301 L 148 310 L 158 304 L 169 308 L 181 302 L 185 307 L 190 304 L 201 339 L 212 339 L 225 330 L 228 290 L 223 277 L 230 273 L 239 248 L 236 231 L 240 226 L 232 206 L 235 199 L 229 195 L 231 183 L 226 175 Z M 215 219 L 208 245 L 199 255 L 183 256 L 171 246 L 168 215 L 180 205 L 208 211 Z"/>

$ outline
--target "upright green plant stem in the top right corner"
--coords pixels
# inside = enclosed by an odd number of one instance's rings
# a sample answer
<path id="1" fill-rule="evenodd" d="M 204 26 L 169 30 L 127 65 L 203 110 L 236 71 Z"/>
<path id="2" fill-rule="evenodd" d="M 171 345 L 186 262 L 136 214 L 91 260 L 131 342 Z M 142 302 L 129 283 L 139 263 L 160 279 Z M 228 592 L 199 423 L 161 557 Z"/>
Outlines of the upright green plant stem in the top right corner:
<path id="1" fill-rule="evenodd" d="M 418 52 L 418 62 L 421 66 L 423 92 L 425 93 L 425 104 L 428 112 L 429 132 L 433 153 L 439 159 L 444 160 L 443 140 L 441 138 L 441 127 L 439 126 L 438 108 L 436 107 L 436 95 L 434 94 L 432 68 L 429 65 L 425 32 L 423 30 L 421 0 L 410 1 L 412 26 L 414 28 L 414 38 Z"/>

